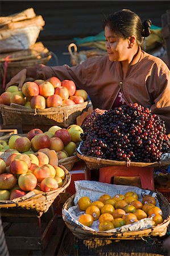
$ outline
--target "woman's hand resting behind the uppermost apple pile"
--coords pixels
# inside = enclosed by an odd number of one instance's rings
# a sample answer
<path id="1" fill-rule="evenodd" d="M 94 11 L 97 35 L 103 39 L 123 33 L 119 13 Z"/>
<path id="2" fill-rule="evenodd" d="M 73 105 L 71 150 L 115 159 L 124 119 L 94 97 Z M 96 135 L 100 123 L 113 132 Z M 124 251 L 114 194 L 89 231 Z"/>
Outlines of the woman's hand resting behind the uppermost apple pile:
<path id="1" fill-rule="evenodd" d="M 7 89 L 9 86 L 11 85 L 18 85 L 18 90 L 22 89 L 22 86 L 26 80 L 26 76 L 27 76 L 27 69 L 24 68 L 22 69 L 18 74 L 16 74 L 11 80 L 10 82 L 7 83 L 6 88 Z"/>

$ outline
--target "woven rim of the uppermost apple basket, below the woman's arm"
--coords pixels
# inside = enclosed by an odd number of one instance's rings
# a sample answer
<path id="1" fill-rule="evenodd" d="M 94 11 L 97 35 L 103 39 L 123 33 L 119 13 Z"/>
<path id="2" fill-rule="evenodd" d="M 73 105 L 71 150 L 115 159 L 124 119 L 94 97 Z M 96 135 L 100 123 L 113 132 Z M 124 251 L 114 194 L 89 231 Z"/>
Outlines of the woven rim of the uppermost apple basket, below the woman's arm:
<path id="1" fill-rule="evenodd" d="M 18 104 L 13 104 L 13 106 L 7 106 L 4 104 L 0 104 L 0 109 L 6 109 L 6 110 L 11 110 L 12 112 L 22 112 L 26 114 L 49 114 L 51 112 L 52 114 L 56 112 L 60 112 L 61 110 L 69 110 L 69 109 L 79 109 L 82 108 L 82 106 L 88 105 L 89 101 L 85 101 L 82 103 L 78 103 L 75 105 L 67 106 L 67 105 L 61 105 L 57 107 L 52 107 L 52 108 L 45 108 L 45 109 L 28 109 L 25 108 L 24 106 L 19 106 Z M 15 107 L 14 107 L 15 106 Z"/>

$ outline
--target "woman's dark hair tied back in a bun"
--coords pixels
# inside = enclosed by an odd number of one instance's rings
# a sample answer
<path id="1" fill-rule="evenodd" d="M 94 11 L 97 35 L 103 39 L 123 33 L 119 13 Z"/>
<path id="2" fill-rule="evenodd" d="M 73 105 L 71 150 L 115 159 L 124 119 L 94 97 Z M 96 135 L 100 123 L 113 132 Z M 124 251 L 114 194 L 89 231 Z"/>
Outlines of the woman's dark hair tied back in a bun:
<path id="1" fill-rule="evenodd" d="M 108 26 L 115 35 L 125 39 L 131 35 L 135 35 L 139 45 L 142 44 L 143 37 L 146 38 L 150 35 L 151 24 L 150 19 L 144 20 L 142 23 L 139 16 L 128 9 L 109 14 L 103 20 L 103 28 Z"/>

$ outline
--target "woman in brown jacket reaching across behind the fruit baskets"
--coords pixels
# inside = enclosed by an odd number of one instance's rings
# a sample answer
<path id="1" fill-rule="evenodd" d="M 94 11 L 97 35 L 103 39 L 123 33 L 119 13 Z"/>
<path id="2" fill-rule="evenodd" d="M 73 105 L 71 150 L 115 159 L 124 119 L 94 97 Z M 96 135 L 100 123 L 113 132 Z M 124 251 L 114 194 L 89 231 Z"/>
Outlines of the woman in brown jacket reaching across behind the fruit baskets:
<path id="1" fill-rule="evenodd" d="M 165 122 L 170 134 L 170 72 L 163 60 L 141 49 L 143 38 L 150 35 L 151 20 L 142 24 L 133 11 L 123 9 L 103 20 L 107 56 L 98 56 L 80 65 L 47 67 L 39 65 L 23 69 L 11 79 L 7 87 L 19 84 L 26 77 L 61 81 L 73 80 L 85 89 L 93 108 L 110 109 L 126 102 L 137 102 L 151 108 Z"/>

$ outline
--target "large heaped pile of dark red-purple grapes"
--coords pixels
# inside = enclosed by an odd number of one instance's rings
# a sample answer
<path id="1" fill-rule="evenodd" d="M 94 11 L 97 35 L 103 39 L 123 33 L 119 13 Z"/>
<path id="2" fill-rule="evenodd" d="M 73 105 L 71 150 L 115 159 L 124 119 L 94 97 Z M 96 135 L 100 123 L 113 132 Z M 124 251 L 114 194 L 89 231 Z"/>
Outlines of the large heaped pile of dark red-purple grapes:
<path id="1" fill-rule="evenodd" d="M 81 134 L 82 154 L 110 160 L 156 162 L 170 150 L 164 121 L 138 104 L 122 105 L 98 115 Z"/>

